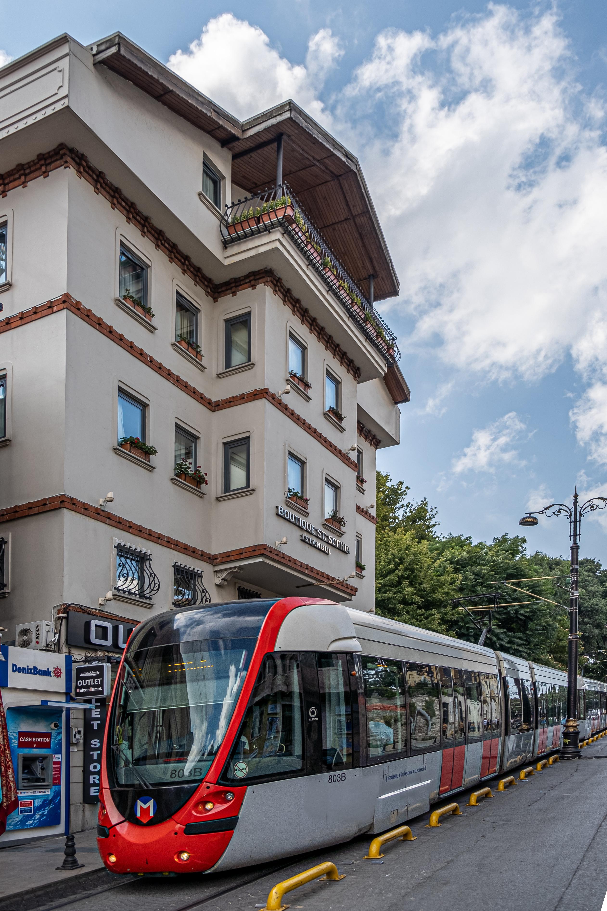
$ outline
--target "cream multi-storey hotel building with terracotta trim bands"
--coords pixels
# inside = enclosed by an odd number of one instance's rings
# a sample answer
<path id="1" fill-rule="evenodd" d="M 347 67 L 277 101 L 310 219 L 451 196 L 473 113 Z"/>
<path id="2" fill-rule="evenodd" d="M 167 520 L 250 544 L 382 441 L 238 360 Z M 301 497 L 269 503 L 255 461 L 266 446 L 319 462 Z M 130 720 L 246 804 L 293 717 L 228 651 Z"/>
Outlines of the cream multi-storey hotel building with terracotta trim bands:
<path id="1" fill-rule="evenodd" d="M 373 610 L 409 389 L 357 159 L 293 102 L 241 122 L 124 36 L 64 35 L 0 69 L 0 193 L 4 641 L 44 620 L 118 653 L 208 599 Z"/>

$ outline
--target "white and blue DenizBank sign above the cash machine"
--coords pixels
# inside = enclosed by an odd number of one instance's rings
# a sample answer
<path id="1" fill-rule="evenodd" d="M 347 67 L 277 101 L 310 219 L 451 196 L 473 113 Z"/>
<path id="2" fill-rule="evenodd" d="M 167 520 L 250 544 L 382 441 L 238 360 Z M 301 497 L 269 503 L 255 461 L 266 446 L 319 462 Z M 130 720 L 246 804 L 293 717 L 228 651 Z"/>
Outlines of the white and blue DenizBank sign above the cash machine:
<path id="1" fill-rule="evenodd" d="M 0 686 L 18 690 L 72 691 L 72 656 L 54 651 L 19 649 L 3 645 Z"/>

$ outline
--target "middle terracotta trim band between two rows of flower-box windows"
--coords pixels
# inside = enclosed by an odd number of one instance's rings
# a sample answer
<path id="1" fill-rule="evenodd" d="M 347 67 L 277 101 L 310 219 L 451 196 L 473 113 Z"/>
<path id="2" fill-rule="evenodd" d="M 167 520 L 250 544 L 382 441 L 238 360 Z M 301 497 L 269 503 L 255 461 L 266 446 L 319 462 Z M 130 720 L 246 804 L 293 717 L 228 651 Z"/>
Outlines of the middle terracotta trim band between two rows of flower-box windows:
<path id="1" fill-rule="evenodd" d="M 155 357 L 148 354 L 143 348 L 139 348 L 138 345 L 127 339 L 123 333 L 117 332 L 114 326 L 111 326 L 100 316 L 96 316 L 96 314 L 92 310 L 88 310 L 82 302 L 76 301 L 71 294 L 62 294 L 61 297 L 56 298 L 54 301 L 46 301 L 46 303 L 38 304 L 30 310 L 24 310 L 20 313 L 14 313 L 13 316 L 7 316 L 5 320 L 0 320 L 0 334 L 9 332 L 12 329 L 17 329 L 19 326 L 25 326 L 28 322 L 35 322 L 35 320 L 40 320 L 45 316 L 50 316 L 53 313 L 62 310 L 74 313 L 79 319 L 86 322 L 89 326 L 92 326 L 97 332 L 105 335 L 110 341 L 116 343 L 121 348 L 124 348 L 126 352 L 132 354 L 138 361 L 145 363 L 147 367 L 150 367 L 157 374 L 163 376 L 169 383 L 177 386 L 177 389 L 180 389 L 182 392 L 195 399 L 199 404 L 204 405 L 205 408 L 211 412 L 223 411 L 225 408 L 234 408 L 239 404 L 248 404 L 249 402 L 258 402 L 261 399 L 265 399 L 270 404 L 273 404 L 275 408 L 278 408 L 278 411 L 281 411 L 283 415 L 286 415 L 291 421 L 305 430 L 306 433 L 313 436 L 314 439 L 317 440 L 320 445 L 323 445 L 325 449 L 328 449 L 330 453 L 337 455 L 344 465 L 347 465 L 353 471 L 357 471 L 357 464 L 354 459 L 350 458 L 349 455 L 346 455 L 346 453 L 339 449 L 338 445 L 332 443 L 327 436 L 321 434 L 314 425 L 309 424 L 309 421 L 306 421 L 306 419 L 301 415 L 298 415 L 296 411 L 289 408 L 288 404 L 285 404 L 282 399 L 278 398 L 277 394 L 270 392 L 269 389 L 253 389 L 248 393 L 229 395 L 227 398 L 216 399 L 214 401 L 209 398 L 208 395 L 201 393 L 196 386 L 187 383 L 187 380 L 184 380 L 178 374 L 173 373 L 169 367 L 166 367 L 164 363 L 157 361 Z"/>

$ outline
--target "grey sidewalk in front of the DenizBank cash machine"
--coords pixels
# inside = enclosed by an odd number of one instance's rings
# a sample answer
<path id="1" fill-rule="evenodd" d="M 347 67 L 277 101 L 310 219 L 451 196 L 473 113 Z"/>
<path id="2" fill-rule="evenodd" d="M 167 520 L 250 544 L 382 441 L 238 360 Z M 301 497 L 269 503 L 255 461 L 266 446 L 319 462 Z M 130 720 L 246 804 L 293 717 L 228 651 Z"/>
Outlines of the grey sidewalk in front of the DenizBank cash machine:
<path id="1" fill-rule="evenodd" d="M 65 835 L 38 838 L 28 844 L 14 844 L 0 848 L 0 898 L 11 896 L 36 886 L 63 882 L 73 876 L 90 873 L 103 867 L 97 851 L 96 829 L 77 832 L 76 858 L 84 864 L 78 870 L 56 870 L 64 859 Z"/>

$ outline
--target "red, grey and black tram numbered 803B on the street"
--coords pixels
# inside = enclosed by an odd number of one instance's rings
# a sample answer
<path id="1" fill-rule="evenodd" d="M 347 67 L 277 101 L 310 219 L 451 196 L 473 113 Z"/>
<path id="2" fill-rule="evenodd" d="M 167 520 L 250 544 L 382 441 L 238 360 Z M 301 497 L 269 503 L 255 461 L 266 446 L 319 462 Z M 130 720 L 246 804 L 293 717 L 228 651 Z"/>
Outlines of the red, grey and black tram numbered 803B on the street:
<path id="1" fill-rule="evenodd" d="M 607 728 L 607 684 L 579 685 L 583 739 Z M 207 872 L 384 831 L 559 749 L 566 688 L 330 601 L 159 614 L 112 695 L 99 851 L 116 873 Z"/>

